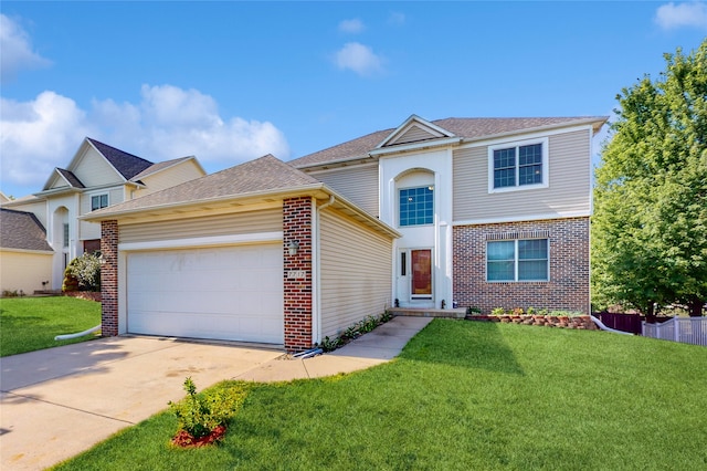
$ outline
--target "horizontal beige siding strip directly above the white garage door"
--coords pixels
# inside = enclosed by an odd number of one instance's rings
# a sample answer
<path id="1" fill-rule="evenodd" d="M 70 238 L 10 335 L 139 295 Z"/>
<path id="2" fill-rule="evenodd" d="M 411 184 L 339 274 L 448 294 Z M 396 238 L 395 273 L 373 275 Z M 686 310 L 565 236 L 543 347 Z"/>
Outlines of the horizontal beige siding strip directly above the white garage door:
<path id="1" fill-rule="evenodd" d="M 119 224 L 118 240 L 123 242 L 166 241 L 213 236 L 247 234 L 283 230 L 282 208 L 235 214 Z"/>

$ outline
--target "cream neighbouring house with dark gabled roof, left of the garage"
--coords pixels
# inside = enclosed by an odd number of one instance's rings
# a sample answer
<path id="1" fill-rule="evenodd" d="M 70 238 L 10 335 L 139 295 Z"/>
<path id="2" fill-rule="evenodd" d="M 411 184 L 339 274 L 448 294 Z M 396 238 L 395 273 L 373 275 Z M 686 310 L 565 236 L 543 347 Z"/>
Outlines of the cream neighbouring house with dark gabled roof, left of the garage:
<path id="1" fill-rule="evenodd" d="M 50 276 L 34 272 L 31 264 L 20 264 L 2 278 L 2 290 L 18 290 L 19 280 L 30 279 L 32 286 L 49 281 L 34 290 L 60 290 L 68 262 L 101 247 L 101 224 L 81 221 L 81 216 L 203 175 L 196 157 L 154 164 L 86 137 L 68 166 L 55 168 L 41 191 L 1 203 L 6 209 L 33 213 L 46 229 L 45 239 L 53 252 Z M 0 223 L 4 226 L 6 212 L 2 216 Z M 0 245 L 6 249 L 4 240 Z M 3 265 L 9 263 L 4 253 L 0 260 Z"/>

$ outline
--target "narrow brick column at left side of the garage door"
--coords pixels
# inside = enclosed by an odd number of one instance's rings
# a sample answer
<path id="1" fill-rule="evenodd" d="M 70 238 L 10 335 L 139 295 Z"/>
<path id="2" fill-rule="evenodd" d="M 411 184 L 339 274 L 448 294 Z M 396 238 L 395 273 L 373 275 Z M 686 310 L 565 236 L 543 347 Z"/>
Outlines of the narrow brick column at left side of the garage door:
<path id="1" fill-rule="evenodd" d="M 101 221 L 101 333 L 118 335 L 118 221 Z"/>

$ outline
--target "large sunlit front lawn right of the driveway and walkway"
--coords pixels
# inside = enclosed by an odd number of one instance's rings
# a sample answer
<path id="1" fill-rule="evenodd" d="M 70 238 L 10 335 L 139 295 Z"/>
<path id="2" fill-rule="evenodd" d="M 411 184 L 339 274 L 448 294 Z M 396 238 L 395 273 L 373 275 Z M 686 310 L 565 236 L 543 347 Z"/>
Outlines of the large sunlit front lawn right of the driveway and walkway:
<path id="1" fill-rule="evenodd" d="M 224 441 L 159 414 L 61 470 L 703 470 L 707 349 L 435 320 L 388 364 L 247 387 Z"/>

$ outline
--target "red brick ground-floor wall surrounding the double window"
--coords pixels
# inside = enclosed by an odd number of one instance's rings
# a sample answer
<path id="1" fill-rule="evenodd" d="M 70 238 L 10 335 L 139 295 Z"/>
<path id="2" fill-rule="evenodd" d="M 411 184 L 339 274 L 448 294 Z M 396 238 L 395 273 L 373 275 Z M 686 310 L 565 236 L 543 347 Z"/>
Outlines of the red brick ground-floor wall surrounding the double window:
<path id="1" fill-rule="evenodd" d="M 486 282 L 486 241 L 509 234 L 547 234 L 550 247 L 550 281 Z M 528 306 L 590 313 L 589 218 L 532 222 L 457 226 L 454 228 L 454 300 L 460 306 Z"/>

